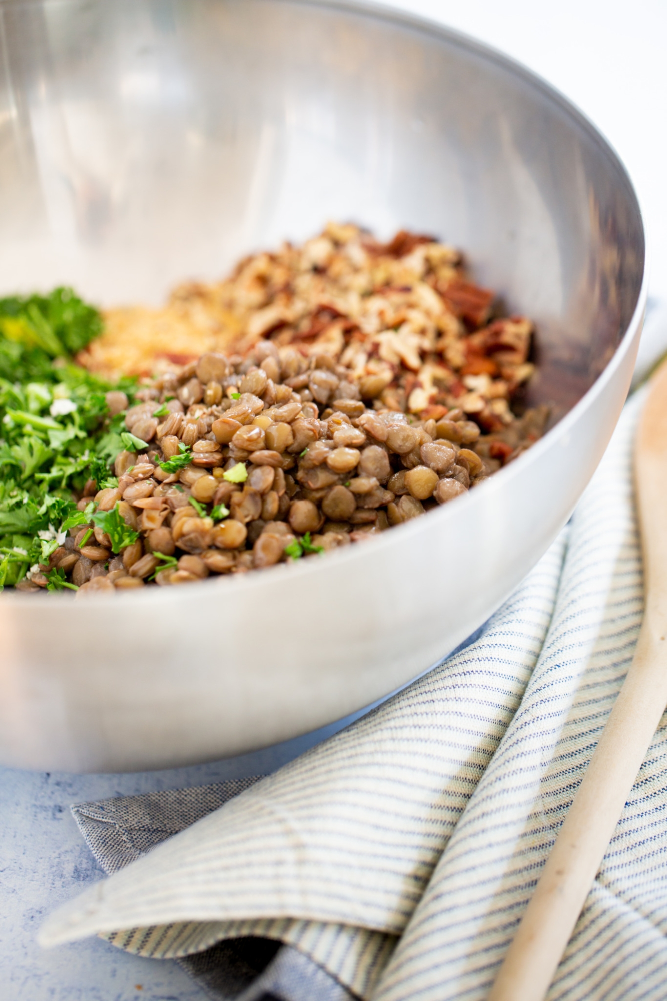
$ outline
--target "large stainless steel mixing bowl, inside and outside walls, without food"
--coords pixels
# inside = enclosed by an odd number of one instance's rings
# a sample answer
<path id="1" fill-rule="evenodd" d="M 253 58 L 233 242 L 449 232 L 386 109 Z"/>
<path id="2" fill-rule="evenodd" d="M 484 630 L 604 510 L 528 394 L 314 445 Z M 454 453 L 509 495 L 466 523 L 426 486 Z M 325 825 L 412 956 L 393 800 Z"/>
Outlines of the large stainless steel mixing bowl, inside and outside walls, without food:
<path id="1" fill-rule="evenodd" d="M 427 518 L 183 589 L 0 600 L 0 760 L 163 768 L 281 741 L 425 670 L 568 519 L 626 396 L 646 285 L 606 141 L 510 60 L 427 22 L 289 0 L 0 3 L 0 275 L 159 300 L 327 219 L 468 252 L 535 317 L 554 426 Z"/>

